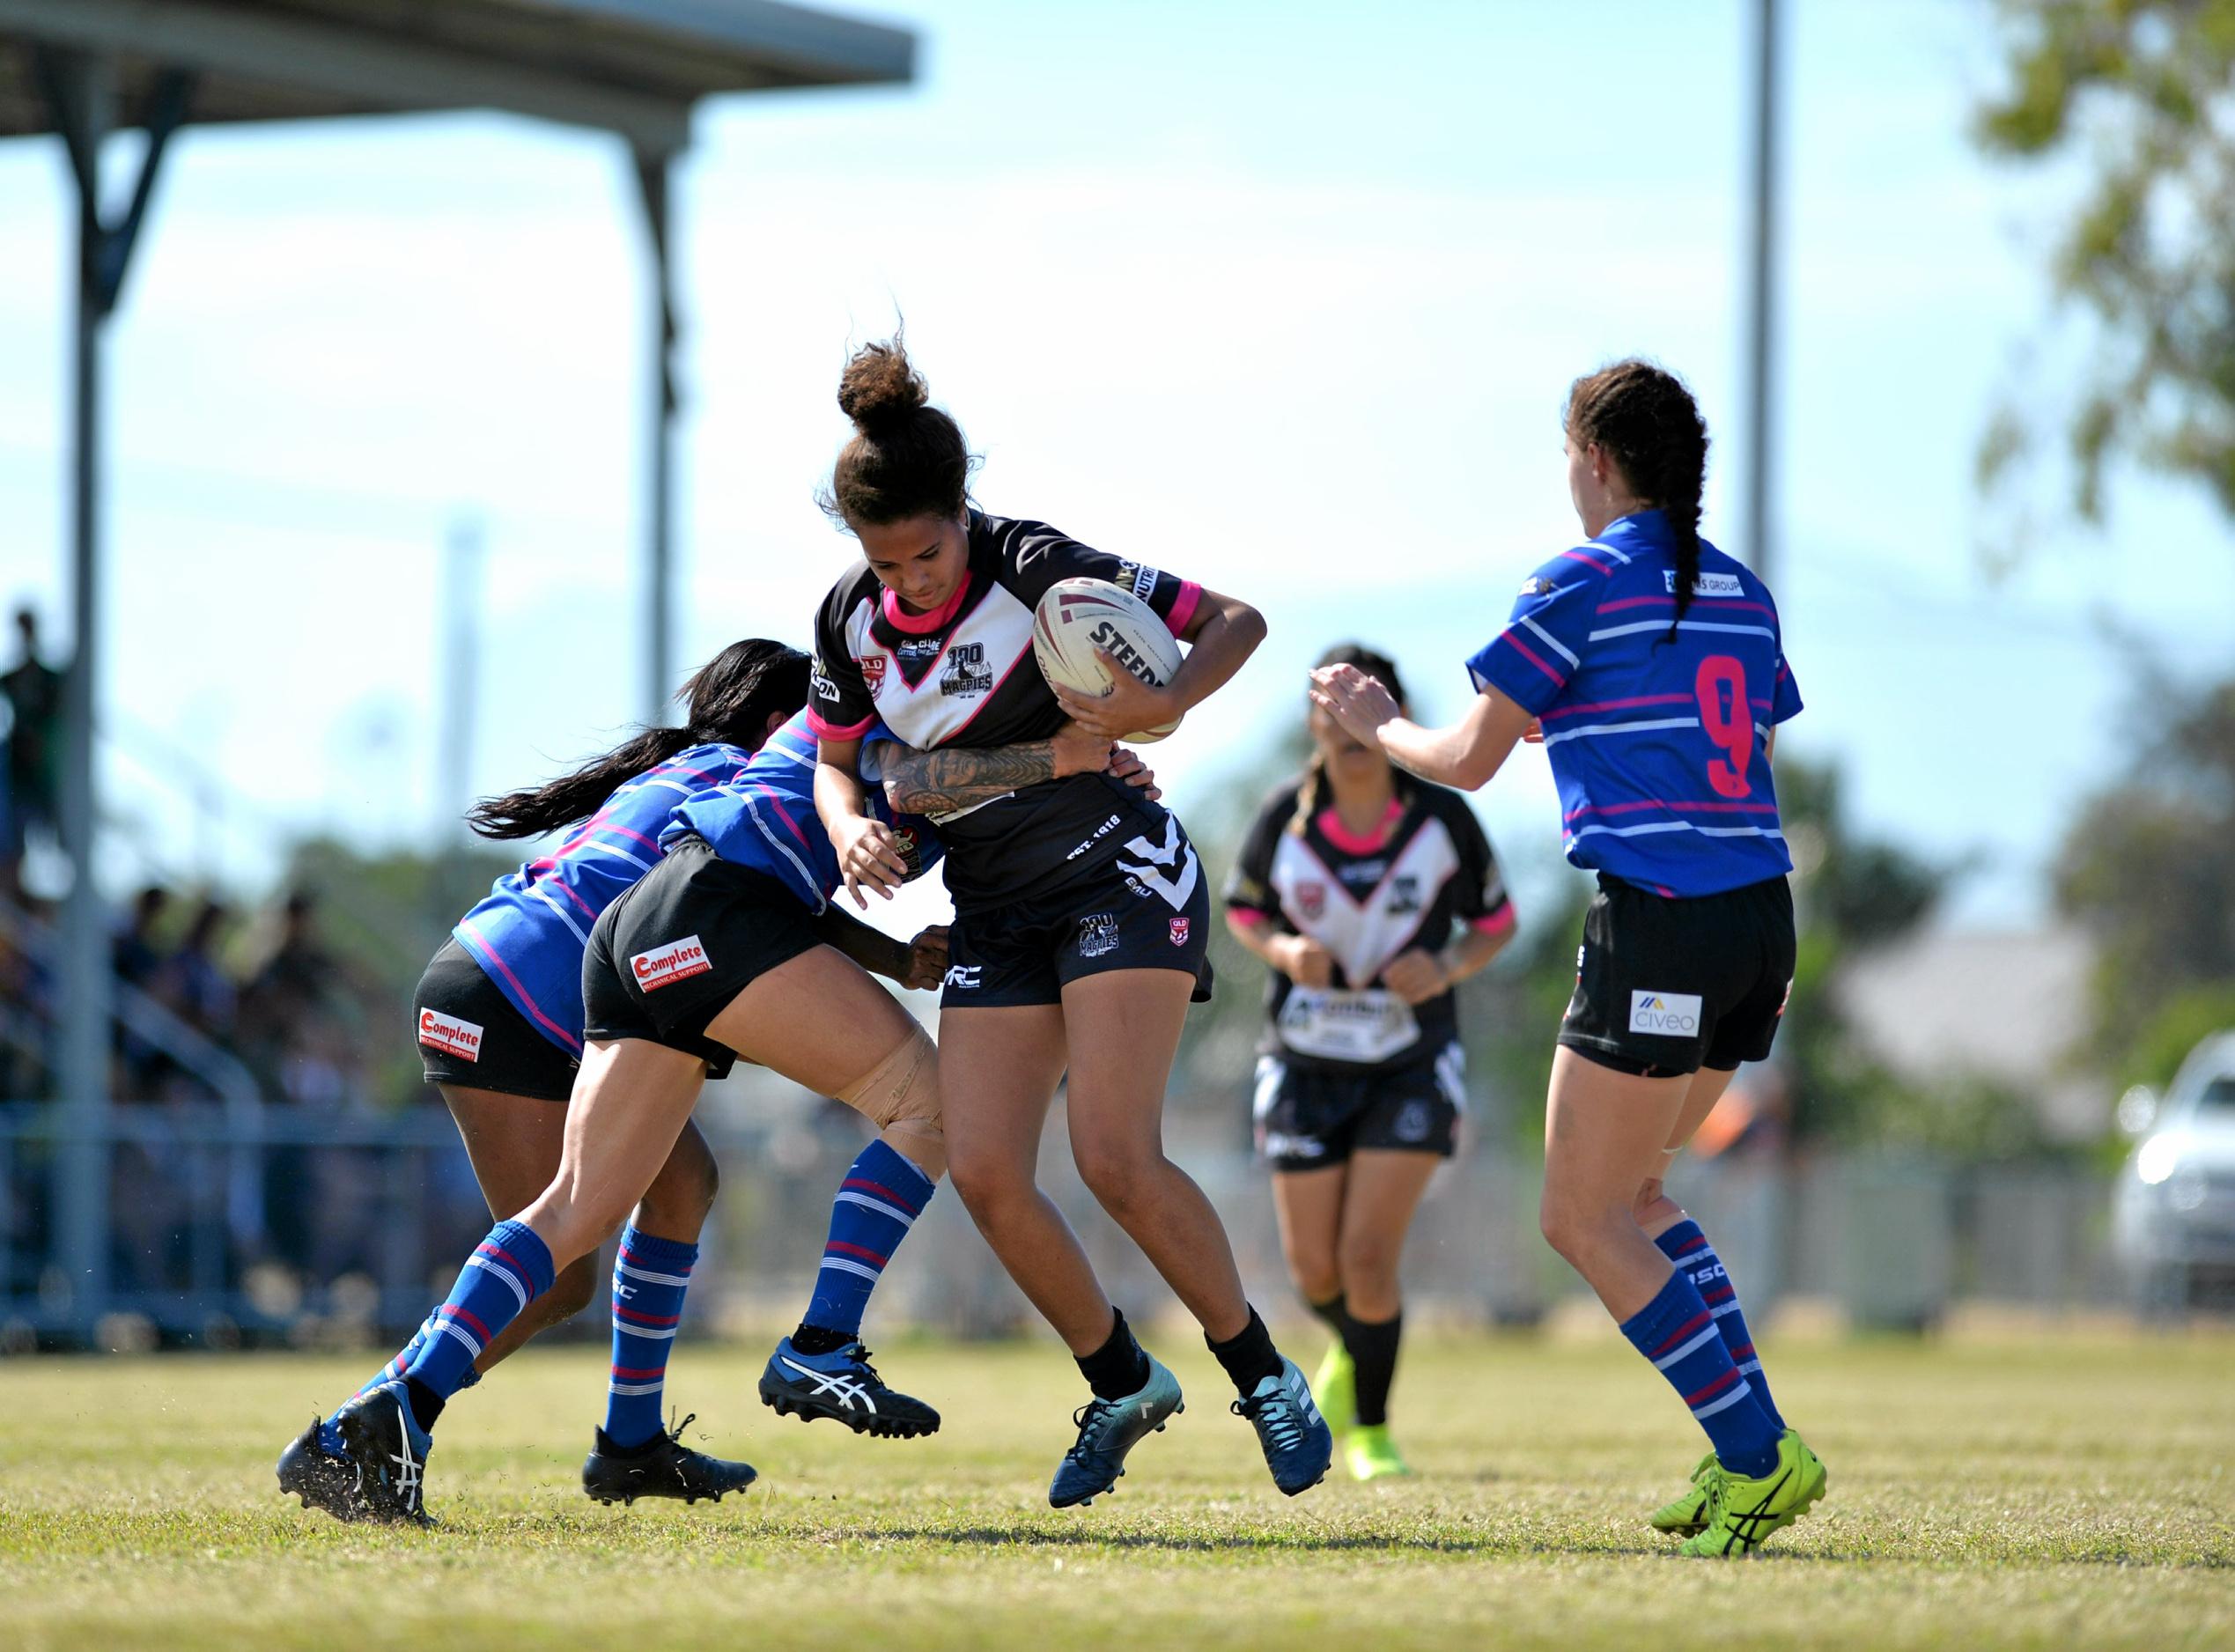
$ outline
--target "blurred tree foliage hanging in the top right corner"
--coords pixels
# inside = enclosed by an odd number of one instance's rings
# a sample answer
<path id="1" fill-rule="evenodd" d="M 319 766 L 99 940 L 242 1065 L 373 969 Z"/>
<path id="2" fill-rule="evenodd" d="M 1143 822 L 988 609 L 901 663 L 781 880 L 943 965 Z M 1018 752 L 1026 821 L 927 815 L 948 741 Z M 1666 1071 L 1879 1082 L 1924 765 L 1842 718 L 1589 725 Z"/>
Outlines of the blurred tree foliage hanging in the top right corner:
<path id="1" fill-rule="evenodd" d="M 2201 481 L 2235 512 L 2235 0 L 1998 0 L 2009 85 L 1978 114 L 1996 154 L 2090 156 L 2056 291 L 2094 313 L 2070 416 L 2081 516 L 2117 456 Z M 1980 452 L 1991 485 L 2038 436 L 2016 400 Z"/>

